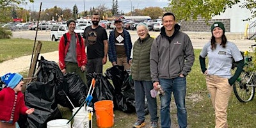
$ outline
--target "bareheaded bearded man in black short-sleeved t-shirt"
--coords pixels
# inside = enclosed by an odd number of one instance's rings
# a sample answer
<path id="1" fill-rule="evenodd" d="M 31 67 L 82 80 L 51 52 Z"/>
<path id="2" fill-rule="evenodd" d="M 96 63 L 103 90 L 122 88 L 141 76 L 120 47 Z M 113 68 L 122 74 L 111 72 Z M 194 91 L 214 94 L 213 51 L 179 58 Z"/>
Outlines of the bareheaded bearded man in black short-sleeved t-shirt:
<path id="1" fill-rule="evenodd" d="M 108 56 L 108 35 L 106 29 L 99 26 L 100 16 L 92 15 L 92 26 L 84 29 L 84 44 L 87 47 L 86 73 L 102 73 Z"/>

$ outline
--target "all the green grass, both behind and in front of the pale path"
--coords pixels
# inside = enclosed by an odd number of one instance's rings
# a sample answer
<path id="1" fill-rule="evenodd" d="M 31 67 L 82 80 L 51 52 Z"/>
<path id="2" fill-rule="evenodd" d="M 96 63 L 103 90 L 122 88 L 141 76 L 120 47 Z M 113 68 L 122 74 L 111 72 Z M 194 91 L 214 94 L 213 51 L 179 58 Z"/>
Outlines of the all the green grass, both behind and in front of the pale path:
<path id="1" fill-rule="evenodd" d="M 4 60 L 10 60 L 19 56 L 31 55 L 33 49 L 33 40 L 24 39 L 6 39 L 0 40 L 0 63 Z M 58 50 L 58 43 L 43 42 L 42 53 Z M 211 100 L 208 97 L 207 88 L 205 85 L 205 77 L 201 72 L 198 56 L 200 49 L 195 49 L 195 63 L 191 72 L 187 76 L 187 95 L 186 107 L 188 110 L 188 127 L 189 128 L 212 128 L 214 127 L 214 109 L 211 105 Z M 106 68 L 111 67 L 111 63 L 104 65 Z M 1 72 L 1 71 L 0 71 Z M 157 97 L 158 115 L 160 102 Z M 229 128 L 248 128 L 255 127 L 256 122 L 256 99 L 247 102 L 239 102 L 234 93 L 230 98 L 228 105 L 228 125 Z M 63 113 L 63 118 L 69 119 L 72 113 L 67 108 L 60 108 Z M 171 115 L 173 127 L 177 125 L 177 111 L 172 97 Z M 150 116 L 146 116 L 146 123 L 149 124 Z M 123 113 L 122 111 L 115 111 L 115 125 L 114 127 L 132 127 L 136 121 L 136 113 Z M 148 126 L 148 125 L 147 125 Z M 93 115 L 93 127 L 97 127 L 95 115 Z"/>

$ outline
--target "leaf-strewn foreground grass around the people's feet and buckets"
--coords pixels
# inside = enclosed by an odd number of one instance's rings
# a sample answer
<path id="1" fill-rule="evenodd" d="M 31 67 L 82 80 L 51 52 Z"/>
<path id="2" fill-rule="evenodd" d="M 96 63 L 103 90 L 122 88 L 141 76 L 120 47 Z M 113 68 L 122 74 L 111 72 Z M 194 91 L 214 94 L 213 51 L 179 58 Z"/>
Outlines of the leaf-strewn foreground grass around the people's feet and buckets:
<path id="1" fill-rule="evenodd" d="M 211 105 L 211 99 L 208 97 L 208 92 L 205 84 L 205 77 L 200 69 L 198 56 L 200 49 L 195 49 L 195 63 L 190 74 L 187 77 L 187 96 L 186 107 L 188 111 L 188 127 L 190 128 L 211 128 L 215 125 L 214 109 Z M 104 70 L 111 67 L 111 63 L 104 65 Z M 255 127 L 256 122 L 256 104 L 255 100 L 248 103 L 241 103 L 236 99 L 234 93 L 228 106 L 228 125 L 230 128 L 246 128 Z M 159 115 L 160 101 L 157 97 L 157 115 Z M 67 111 L 66 111 L 67 112 Z M 65 111 L 63 111 L 65 113 Z M 67 112 L 68 113 L 68 112 Z M 64 114 L 67 118 L 71 113 Z M 172 97 L 171 117 L 173 127 L 178 127 L 177 111 Z M 146 116 L 146 123 L 150 124 L 150 116 Z M 136 121 L 136 113 L 123 113 L 122 111 L 115 111 L 115 125 L 114 127 L 132 127 Z M 93 115 L 93 127 L 97 127 L 95 115 Z M 147 125 L 148 127 L 148 125 Z"/>

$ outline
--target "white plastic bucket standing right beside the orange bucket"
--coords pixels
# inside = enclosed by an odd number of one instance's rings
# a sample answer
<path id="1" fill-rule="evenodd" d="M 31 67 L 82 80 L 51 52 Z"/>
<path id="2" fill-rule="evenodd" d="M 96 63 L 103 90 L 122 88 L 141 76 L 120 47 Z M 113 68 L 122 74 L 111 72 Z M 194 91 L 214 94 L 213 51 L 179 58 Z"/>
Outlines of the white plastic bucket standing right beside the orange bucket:
<path id="1" fill-rule="evenodd" d="M 90 127 L 90 119 L 92 120 L 92 117 L 90 118 L 90 116 L 92 116 L 92 113 L 88 112 L 88 111 L 92 111 L 91 107 L 86 107 L 87 109 L 85 110 L 84 107 L 82 107 L 77 113 L 76 111 L 79 109 L 79 107 L 74 108 L 73 114 L 74 115 L 76 113 L 76 115 L 74 116 L 74 122 L 72 124 L 72 128 L 89 128 Z"/>

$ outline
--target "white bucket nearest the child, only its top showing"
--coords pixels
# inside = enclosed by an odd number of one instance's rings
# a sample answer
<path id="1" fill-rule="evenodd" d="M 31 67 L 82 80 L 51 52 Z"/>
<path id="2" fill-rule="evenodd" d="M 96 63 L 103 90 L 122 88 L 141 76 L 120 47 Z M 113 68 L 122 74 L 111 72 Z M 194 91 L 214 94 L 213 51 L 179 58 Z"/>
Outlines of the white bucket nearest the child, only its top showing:
<path id="1" fill-rule="evenodd" d="M 56 119 L 47 122 L 47 128 L 71 128 L 70 122 L 67 124 L 67 119 Z"/>

